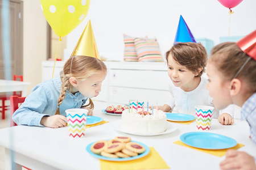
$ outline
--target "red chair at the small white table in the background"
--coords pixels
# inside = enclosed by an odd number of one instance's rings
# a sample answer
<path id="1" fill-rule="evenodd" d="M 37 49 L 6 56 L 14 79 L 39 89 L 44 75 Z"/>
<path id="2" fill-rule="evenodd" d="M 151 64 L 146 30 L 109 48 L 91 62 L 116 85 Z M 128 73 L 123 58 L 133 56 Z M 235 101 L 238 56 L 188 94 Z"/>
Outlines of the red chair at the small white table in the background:
<path id="1" fill-rule="evenodd" d="M 20 82 L 23 82 L 23 75 L 13 75 L 13 80 L 16 81 L 17 79 L 20 80 Z M 22 96 L 22 92 L 20 91 L 19 93 L 17 92 L 13 92 L 13 96 Z M 0 107 L 1 110 L 0 112 L 2 112 L 2 119 L 5 119 L 5 111 L 7 111 L 9 109 L 8 105 L 5 105 L 5 101 L 6 100 L 10 100 L 10 96 L 7 96 L 6 93 L 1 93 L 0 95 L 0 100 L 2 100 L 2 106 Z"/>

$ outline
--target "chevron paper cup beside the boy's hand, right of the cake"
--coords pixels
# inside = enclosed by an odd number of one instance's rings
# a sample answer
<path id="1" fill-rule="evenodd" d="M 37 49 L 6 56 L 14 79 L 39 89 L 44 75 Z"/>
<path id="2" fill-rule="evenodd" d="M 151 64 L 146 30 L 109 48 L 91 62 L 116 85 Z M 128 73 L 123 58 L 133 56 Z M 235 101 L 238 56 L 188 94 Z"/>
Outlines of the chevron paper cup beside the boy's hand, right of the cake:
<path id="1" fill-rule="evenodd" d="M 214 107 L 197 105 L 196 107 L 196 128 L 201 131 L 210 130 Z"/>

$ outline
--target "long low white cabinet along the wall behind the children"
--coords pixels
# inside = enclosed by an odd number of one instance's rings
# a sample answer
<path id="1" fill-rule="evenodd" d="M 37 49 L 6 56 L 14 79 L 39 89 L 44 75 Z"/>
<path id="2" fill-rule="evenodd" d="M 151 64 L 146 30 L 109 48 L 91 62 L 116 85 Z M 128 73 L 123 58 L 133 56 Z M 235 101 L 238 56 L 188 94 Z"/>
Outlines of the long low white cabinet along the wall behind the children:
<path id="1" fill-rule="evenodd" d="M 54 76 L 63 70 L 64 61 L 56 61 Z M 169 95 L 167 64 L 165 62 L 104 62 L 108 75 L 100 95 L 93 97 L 94 110 L 108 105 L 128 104 L 144 100 L 163 105 Z M 54 61 L 42 62 L 42 81 L 52 78 Z"/>

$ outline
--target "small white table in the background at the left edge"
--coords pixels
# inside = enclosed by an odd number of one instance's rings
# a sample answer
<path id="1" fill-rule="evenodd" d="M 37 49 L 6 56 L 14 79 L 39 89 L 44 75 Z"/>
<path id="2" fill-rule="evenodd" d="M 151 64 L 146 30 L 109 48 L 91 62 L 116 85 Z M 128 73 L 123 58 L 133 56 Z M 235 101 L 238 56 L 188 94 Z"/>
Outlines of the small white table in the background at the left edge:
<path id="1" fill-rule="evenodd" d="M 29 82 L 13 80 L 0 80 L 0 92 L 22 91 L 22 96 L 27 96 L 27 85 Z"/>

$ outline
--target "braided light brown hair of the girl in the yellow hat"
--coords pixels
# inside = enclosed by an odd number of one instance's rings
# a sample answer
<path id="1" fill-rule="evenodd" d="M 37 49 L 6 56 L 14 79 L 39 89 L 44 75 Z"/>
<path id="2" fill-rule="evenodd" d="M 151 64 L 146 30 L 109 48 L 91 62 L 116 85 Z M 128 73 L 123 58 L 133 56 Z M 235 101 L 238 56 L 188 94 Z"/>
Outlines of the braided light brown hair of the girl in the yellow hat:
<path id="1" fill-rule="evenodd" d="M 72 64 L 71 64 L 72 62 Z M 72 67 L 71 67 L 72 65 Z M 106 71 L 106 65 L 100 59 L 87 56 L 72 56 L 70 57 L 63 67 L 63 73 L 60 74 L 61 85 L 60 96 L 58 101 L 58 107 L 55 114 L 60 114 L 59 106 L 65 98 L 66 90 L 70 90 L 72 84 L 69 82 L 69 78 L 73 76 L 77 80 L 86 80 L 89 76 L 96 74 L 98 71 Z M 93 101 L 89 99 L 89 104 L 85 107 L 90 106 L 90 109 L 94 108 Z"/>

